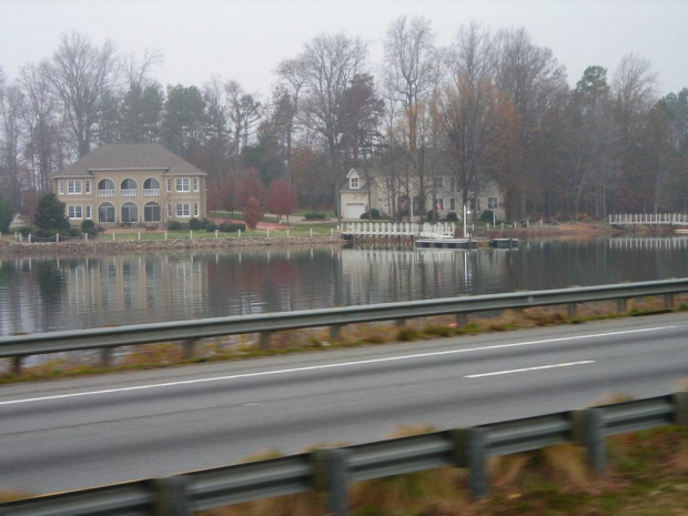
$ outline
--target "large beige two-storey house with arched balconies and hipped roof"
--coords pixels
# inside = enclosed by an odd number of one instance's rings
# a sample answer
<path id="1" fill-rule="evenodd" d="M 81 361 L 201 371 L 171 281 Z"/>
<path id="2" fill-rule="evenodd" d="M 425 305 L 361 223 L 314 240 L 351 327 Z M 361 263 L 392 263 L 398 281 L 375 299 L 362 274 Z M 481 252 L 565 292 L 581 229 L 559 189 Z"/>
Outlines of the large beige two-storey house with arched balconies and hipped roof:
<path id="1" fill-rule="evenodd" d="M 204 219 L 205 172 L 158 143 L 115 143 L 53 178 L 72 225 L 155 225 Z"/>

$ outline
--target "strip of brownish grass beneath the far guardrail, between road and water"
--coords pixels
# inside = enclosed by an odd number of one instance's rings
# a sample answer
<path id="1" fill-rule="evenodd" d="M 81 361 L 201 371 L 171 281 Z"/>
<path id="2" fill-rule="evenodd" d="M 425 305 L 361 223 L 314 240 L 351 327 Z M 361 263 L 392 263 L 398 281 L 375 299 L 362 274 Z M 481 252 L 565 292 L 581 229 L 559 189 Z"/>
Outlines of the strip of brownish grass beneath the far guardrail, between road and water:
<path id="1" fill-rule="evenodd" d="M 677 296 L 677 311 L 688 311 L 688 296 Z M 465 326 L 458 326 L 452 316 L 407 320 L 398 327 L 394 322 L 351 324 L 341 331 L 340 340 L 331 341 L 328 328 L 275 332 L 270 336 L 269 348 L 261 347 L 260 335 L 246 334 L 201 340 L 193 358 L 184 357 L 179 343 L 158 343 L 130 346 L 121 353 L 111 367 L 99 365 L 98 350 L 90 352 L 45 355 L 37 365 L 26 366 L 18 374 L 11 372 L 10 360 L 0 360 L 0 384 L 42 381 L 90 374 L 150 370 L 198 364 L 203 362 L 260 358 L 291 353 L 324 352 L 332 348 L 368 345 L 392 345 L 398 342 L 505 332 L 519 328 L 579 324 L 586 321 L 615 318 L 665 312 L 661 297 L 636 299 L 628 302 L 628 312 L 616 312 L 616 303 L 588 303 L 580 305 L 578 317 L 571 320 L 564 306 L 534 307 L 506 311 L 494 317 L 472 316 Z"/>

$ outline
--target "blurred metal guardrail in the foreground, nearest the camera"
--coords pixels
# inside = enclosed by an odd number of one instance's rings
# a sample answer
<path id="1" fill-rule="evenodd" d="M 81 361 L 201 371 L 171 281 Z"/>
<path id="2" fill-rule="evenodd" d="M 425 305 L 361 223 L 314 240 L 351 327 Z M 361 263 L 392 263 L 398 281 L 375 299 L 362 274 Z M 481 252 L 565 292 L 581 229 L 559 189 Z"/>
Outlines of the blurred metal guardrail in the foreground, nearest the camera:
<path id="1" fill-rule="evenodd" d="M 9 502 L 0 516 L 190 516 L 308 490 L 324 492 L 327 509 L 344 516 L 351 483 L 443 466 L 467 468 L 479 498 L 489 492 L 489 457 L 576 443 L 604 472 L 607 436 L 671 424 L 688 426 L 688 392 Z"/>

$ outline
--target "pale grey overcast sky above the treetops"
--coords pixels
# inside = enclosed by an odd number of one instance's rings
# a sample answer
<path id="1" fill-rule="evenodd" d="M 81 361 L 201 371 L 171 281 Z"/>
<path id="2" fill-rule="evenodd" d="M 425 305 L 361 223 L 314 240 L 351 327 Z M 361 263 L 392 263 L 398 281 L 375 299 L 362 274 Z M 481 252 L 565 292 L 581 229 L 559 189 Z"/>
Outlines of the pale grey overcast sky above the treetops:
<path id="1" fill-rule="evenodd" d="M 402 14 L 428 19 L 441 45 L 472 20 L 525 27 L 566 65 L 571 85 L 591 64 L 611 79 L 634 52 L 652 62 L 660 94 L 688 87 L 688 0 L 0 0 L 0 67 L 11 80 L 77 30 L 124 53 L 160 50 L 154 75 L 163 85 L 201 87 L 215 74 L 266 95 L 276 63 L 323 32 L 363 38 L 374 70 Z"/>

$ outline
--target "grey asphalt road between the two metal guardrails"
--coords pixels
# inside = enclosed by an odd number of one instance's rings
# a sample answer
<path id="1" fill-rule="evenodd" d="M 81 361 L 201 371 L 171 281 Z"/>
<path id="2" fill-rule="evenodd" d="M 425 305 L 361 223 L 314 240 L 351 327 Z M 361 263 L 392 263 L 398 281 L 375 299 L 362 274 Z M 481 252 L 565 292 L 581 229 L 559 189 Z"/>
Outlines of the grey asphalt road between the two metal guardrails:
<path id="1" fill-rule="evenodd" d="M 0 490 L 32 494 L 657 396 L 688 378 L 688 315 L 0 387 Z"/>

